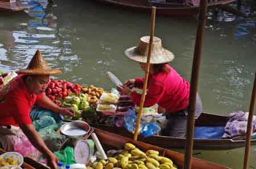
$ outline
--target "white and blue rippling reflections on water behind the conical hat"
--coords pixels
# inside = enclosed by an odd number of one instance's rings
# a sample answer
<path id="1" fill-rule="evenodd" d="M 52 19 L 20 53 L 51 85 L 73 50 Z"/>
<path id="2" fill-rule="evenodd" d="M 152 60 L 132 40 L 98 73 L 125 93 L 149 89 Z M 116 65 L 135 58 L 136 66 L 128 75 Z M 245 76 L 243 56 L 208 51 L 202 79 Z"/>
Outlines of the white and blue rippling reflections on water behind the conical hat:
<path id="1" fill-rule="evenodd" d="M 72 71 L 73 66 L 79 65 L 80 59 L 71 49 L 72 42 L 59 34 L 57 17 L 50 10 L 44 9 L 48 1 L 23 2 L 34 6 L 26 11 L 30 18 L 0 18 L 1 23 L 5 23 L 0 27 L 1 69 L 10 71 L 26 67 L 35 51 L 39 49 L 50 66 L 59 67 L 64 73 Z M 10 30 L 2 31 L 3 29 Z"/>

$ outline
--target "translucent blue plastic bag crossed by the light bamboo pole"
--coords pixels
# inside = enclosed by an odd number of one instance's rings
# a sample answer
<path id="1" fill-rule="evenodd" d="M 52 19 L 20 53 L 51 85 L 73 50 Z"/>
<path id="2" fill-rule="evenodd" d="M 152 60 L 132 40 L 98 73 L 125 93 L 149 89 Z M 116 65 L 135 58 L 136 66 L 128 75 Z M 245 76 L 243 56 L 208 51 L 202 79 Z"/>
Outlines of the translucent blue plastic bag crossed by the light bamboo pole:
<path id="1" fill-rule="evenodd" d="M 127 115 L 123 118 L 125 121 L 124 127 L 129 132 L 134 133 L 137 125 L 137 115 L 132 109 L 129 109 L 128 112 L 129 113 L 127 113 Z M 150 120 L 151 122 L 148 121 L 149 120 L 141 120 L 141 123 L 139 125 L 139 133 L 143 137 L 154 136 L 155 134 L 158 134 L 161 130 L 160 126 L 156 122 L 152 120 Z"/>

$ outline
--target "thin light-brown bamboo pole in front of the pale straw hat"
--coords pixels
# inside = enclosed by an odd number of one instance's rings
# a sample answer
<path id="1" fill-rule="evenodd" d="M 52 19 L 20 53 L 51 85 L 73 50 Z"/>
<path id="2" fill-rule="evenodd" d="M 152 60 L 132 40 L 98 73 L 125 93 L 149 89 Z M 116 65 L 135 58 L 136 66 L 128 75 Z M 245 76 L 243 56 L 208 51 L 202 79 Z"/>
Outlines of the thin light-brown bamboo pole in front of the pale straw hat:
<path id="1" fill-rule="evenodd" d="M 137 125 L 134 132 L 133 140 L 137 140 L 138 133 L 139 133 L 139 123 L 141 122 L 141 115 L 142 115 L 142 109 L 145 101 L 145 95 L 146 95 L 146 89 L 147 89 L 147 80 L 148 80 L 148 74 L 150 69 L 150 57 L 151 57 L 151 50 L 152 50 L 152 41 L 154 37 L 154 31 L 155 31 L 155 6 L 152 6 L 152 12 L 151 12 L 151 32 L 150 32 L 150 42 L 148 46 L 148 53 L 147 53 L 147 67 L 145 72 L 145 79 L 143 83 L 143 91 L 141 96 L 141 103 L 139 104 L 139 113 L 137 117 Z"/>

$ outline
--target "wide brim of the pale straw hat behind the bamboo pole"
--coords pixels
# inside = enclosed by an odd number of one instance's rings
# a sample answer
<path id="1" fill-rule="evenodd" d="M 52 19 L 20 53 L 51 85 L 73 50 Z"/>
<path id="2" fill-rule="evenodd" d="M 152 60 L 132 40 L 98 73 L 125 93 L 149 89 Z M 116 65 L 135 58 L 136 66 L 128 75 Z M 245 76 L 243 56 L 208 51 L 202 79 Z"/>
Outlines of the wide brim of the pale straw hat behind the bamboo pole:
<path id="1" fill-rule="evenodd" d="M 137 47 L 131 47 L 125 50 L 125 55 L 130 58 L 131 60 L 147 63 L 147 56 L 138 54 Z M 162 56 L 151 56 L 150 57 L 150 64 L 166 64 L 168 62 L 171 62 L 174 60 L 174 53 L 172 53 L 170 50 L 163 49 Z"/>

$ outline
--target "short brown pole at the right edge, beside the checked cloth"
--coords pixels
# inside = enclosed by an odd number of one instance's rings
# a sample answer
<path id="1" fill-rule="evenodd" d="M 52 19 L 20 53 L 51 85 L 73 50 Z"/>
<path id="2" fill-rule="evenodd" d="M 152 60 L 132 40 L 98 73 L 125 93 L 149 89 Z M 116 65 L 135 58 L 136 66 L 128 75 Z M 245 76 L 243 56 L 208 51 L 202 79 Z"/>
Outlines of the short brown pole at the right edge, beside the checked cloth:
<path id="1" fill-rule="evenodd" d="M 249 116 L 247 122 L 247 132 L 246 132 L 246 146 L 245 146 L 245 157 L 243 158 L 243 169 L 247 169 L 249 166 L 249 156 L 250 156 L 250 144 L 251 144 L 251 123 L 253 122 L 253 112 L 256 98 L 256 72 L 253 84 L 253 93 L 251 94 L 251 103 L 249 109 Z"/>

